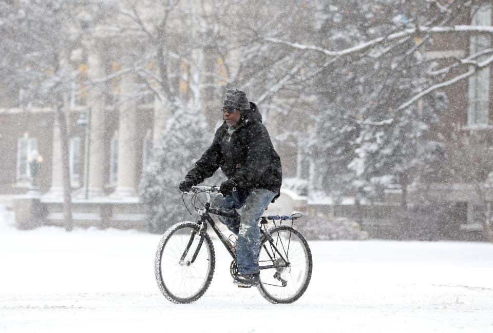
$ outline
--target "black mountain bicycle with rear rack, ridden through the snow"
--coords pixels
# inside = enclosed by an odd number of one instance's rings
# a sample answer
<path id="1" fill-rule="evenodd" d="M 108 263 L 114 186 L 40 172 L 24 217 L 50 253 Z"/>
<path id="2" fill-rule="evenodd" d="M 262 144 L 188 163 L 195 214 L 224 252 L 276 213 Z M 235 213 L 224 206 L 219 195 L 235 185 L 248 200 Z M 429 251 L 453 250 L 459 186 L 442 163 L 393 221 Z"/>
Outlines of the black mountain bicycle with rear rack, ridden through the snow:
<path id="1" fill-rule="evenodd" d="M 198 194 L 205 193 L 207 201 L 202 203 Z M 211 284 L 215 269 L 215 250 L 207 233 L 210 225 L 217 237 L 231 254 L 233 261 L 230 274 L 237 280 L 236 249 L 211 217 L 211 214 L 239 219 L 240 215 L 212 209 L 211 194 L 218 194 L 216 186 L 193 186 L 191 202 L 200 220 L 179 222 L 163 235 L 156 251 L 154 263 L 156 281 L 164 297 L 173 303 L 192 303 L 202 297 Z M 197 207 L 197 200 L 202 205 Z M 190 212 L 190 210 L 188 210 Z M 293 228 L 293 222 L 301 217 L 267 216 L 260 218 L 260 294 L 271 303 L 292 303 L 307 290 L 312 275 L 312 254 L 302 234 Z M 273 226 L 268 228 L 271 220 Z M 276 224 L 276 221 L 279 221 Z M 282 224 L 291 221 L 291 226 Z"/>

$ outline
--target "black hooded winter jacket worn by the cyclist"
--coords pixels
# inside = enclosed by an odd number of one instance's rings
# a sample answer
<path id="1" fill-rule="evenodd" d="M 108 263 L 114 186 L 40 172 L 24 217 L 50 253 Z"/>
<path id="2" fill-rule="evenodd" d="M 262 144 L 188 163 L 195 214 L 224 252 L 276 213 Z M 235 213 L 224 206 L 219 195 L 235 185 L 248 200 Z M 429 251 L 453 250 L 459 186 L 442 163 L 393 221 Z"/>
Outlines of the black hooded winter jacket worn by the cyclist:
<path id="1" fill-rule="evenodd" d="M 217 129 L 212 145 L 185 178 L 199 184 L 221 167 L 238 188 L 245 191 L 265 188 L 279 192 L 282 181 L 279 155 L 262 124 L 257 106 L 250 102 L 250 107 L 231 135 L 227 132 L 226 122 Z"/>

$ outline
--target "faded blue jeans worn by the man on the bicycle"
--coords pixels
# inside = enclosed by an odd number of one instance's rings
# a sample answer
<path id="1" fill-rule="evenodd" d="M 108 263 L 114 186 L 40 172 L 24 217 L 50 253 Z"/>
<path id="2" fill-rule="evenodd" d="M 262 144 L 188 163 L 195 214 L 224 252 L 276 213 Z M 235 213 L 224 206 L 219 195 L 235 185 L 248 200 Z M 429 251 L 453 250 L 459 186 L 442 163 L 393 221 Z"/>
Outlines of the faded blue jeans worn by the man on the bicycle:
<path id="1" fill-rule="evenodd" d="M 234 214 L 235 209 L 243 207 L 239 223 L 234 219 L 218 217 L 219 221 L 238 236 L 236 262 L 240 274 L 259 272 L 260 229 L 257 221 L 276 194 L 264 188 L 252 188 L 250 192 L 237 190 L 227 197 L 222 194 L 214 197 L 211 206 L 217 210 Z"/>

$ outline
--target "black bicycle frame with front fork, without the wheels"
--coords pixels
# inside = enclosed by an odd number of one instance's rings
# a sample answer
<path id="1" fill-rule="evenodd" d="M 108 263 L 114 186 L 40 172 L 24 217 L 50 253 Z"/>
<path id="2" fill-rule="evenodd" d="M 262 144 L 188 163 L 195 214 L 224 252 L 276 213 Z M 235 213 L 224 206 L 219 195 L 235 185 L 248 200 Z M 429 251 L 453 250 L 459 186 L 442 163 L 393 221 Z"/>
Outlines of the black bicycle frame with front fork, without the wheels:
<path id="1" fill-rule="evenodd" d="M 216 216 L 222 216 L 222 217 L 225 217 L 225 218 L 236 219 L 237 221 L 240 218 L 240 216 L 237 213 L 236 214 L 231 214 L 231 213 L 226 213 L 226 212 L 219 211 L 217 209 L 211 209 L 210 208 L 211 207 L 211 203 L 210 203 L 211 202 L 211 194 L 209 192 L 206 192 L 205 194 L 207 195 L 207 202 L 204 205 L 204 209 L 199 210 L 200 221 L 197 221 L 197 224 L 199 224 L 201 226 L 200 231 L 199 231 L 199 236 L 200 236 L 199 244 L 198 244 L 197 248 L 195 249 L 195 252 L 194 252 L 194 254 L 192 256 L 192 260 L 189 261 L 189 262 L 187 262 L 186 263 L 187 265 L 189 265 L 191 263 L 194 263 L 195 262 L 195 259 L 197 258 L 197 255 L 198 255 L 198 253 L 200 251 L 200 248 L 202 247 L 202 243 L 203 243 L 203 240 L 204 240 L 204 235 L 207 232 L 207 224 L 211 225 L 211 227 L 214 230 L 214 232 L 216 233 L 217 237 L 219 238 L 219 240 L 221 241 L 221 243 L 224 245 L 224 247 L 226 248 L 226 250 L 230 253 L 230 255 L 233 258 L 233 260 L 236 260 L 236 254 L 235 254 L 235 252 L 233 250 L 233 246 L 226 239 L 226 237 L 221 232 L 221 230 L 219 229 L 219 227 L 216 225 L 216 223 L 214 222 L 214 220 L 212 219 L 212 217 L 211 217 L 210 214 L 214 214 Z M 267 241 L 271 245 L 271 249 L 273 249 L 278 254 L 279 259 L 281 259 L 284 262 L 284 264 L 281 264 L 281 265 L 274 264 L 274 265 L 269 265 L 269 266 L 260 266 L 259 269 L 281 268 L 281 267 L 287 267 L 287 266 L 289 266 L 289 261 L 287 259 L 285 259 L 282 256 L 282 253 L 277 249 L 277 246 L 274 244 L 273 239 L 272 239 L 271 235 L 269 234 L 269 232 L 267 232 L 266 230 L 260 228 L 260 233 L 261 233 L 261 236 L 267 238 Z M 186 257 L 186 254 L 188 253 L 188 250 L 192 246 L 192 243 L 193 243 L 193 241 L 195 239 L 196 234 L 197 233 L 195 231 L 192 232 L 192 236 L 190 237 L 190 240 L 188 241 L 188 244 L 187 244 L 187 246 L 185 248 L 185 251 L 183 252 L 183 254 L 181 256 L 181 261 L 183 261 L 184 258 Z M 265 244 L 263 246 L 266 247 Z M 266 250 L 267 250 L 267 248 L 266 248 Z M 272 256 L 269 253 L 269 251 L 267 251 L 267 253 L 269 254 L 269 257 L 272 260 L 272 262 L 275 262 L 275 259 L 272 258 Z"/>

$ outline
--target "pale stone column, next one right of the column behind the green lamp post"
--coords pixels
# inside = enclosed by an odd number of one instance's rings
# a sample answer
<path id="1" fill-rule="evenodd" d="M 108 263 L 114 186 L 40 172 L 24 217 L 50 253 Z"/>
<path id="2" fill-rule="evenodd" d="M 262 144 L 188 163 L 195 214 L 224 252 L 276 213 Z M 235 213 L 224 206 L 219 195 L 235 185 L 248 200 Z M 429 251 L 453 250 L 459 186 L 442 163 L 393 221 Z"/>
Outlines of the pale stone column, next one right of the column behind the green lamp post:
<path id="1" fill-rule="evenodd" d="M 118 180 L 113 199 L 136 197 L 136 136 L 137 103 L 134 94 L 137 91 L 135 76 L 122 77 L 120 94 L 120 118 L 118 127 Z"/>

